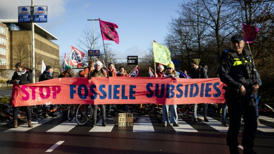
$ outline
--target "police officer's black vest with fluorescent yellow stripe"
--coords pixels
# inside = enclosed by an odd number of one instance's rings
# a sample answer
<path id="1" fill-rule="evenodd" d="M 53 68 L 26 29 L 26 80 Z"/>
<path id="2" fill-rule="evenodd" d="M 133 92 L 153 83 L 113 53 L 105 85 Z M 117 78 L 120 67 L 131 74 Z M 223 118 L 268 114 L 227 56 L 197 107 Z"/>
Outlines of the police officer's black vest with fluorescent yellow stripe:
<path id="1" fill-rule="evenodd" d="M 233 72 L 234 75 L 238 75 L 239 77 L 240 75 L 243 75 L 243 76 L 247 75 L 247 77 L 245 76 L 245 79 L 247 79 L 248 83 L 254 83 L 256 79 L 259 79 L 257 76 L 257 70 L 255 69 L 255 65 L 252 62 L 252 58 L 251 58 L 252 54 L 250 53 L 249 50 L 243 49 L 242 57 L 239 57 L 236 52 L 231 50 L 224 50 L 222 53 L 233 58 L 232 67 L 243 66 L 245 68 L 245 69 L 235 69 L 237 71 Z"/>

